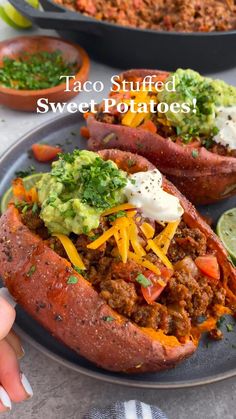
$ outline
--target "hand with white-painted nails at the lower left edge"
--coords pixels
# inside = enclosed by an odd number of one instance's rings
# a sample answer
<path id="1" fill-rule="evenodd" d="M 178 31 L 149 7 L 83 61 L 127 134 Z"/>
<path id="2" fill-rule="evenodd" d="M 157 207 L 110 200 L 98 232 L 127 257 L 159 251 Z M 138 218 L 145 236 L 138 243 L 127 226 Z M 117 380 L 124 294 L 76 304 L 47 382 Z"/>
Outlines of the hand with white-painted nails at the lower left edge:
<path id="1" fill-rule="evenodd" d="M 19 403 L 33 395 L 18 364 L 24 350 L 18 336 L 11 331 L 15 315 L 14 308 L 0 296 L 0 412 L 10 410 L 11 402 Z"/>

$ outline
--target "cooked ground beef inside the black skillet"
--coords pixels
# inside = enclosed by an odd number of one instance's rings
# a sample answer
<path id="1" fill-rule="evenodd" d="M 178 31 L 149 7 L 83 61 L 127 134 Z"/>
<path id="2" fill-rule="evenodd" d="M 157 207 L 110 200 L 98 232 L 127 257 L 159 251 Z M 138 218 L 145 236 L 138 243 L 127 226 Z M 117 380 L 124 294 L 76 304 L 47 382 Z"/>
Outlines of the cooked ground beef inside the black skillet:
<path id="1" fill-rule="evenodd" d="M 228 31 L 236 27 L 234 0 L 54 0 L 99 20 L 176 32 Z"/>

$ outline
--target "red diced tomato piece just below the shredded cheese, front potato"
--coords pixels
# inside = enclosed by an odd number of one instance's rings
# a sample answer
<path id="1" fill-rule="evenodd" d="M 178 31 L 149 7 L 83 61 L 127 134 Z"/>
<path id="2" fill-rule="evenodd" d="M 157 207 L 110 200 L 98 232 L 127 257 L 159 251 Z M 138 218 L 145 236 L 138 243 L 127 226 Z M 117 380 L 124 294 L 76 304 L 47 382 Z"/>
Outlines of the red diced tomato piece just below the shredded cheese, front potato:
<path id="1" fill-rule="evenodd" d="M 167 282 L 169 281 L 172 275 L 172 271 L 167 269 L 165 266 L 159 268 L 161 271 L 160 276 L 157 276 L 151 271 L 145 272 L 146 278 L 148 278 L 152 282 L 152 285 L 150 285 L 149 287 L 141 287 L 143 298 L 147 301 L 148 304 L 153 304 L 156 301 L 156 299 L 161 295 L 162 291 L 165 289 Z M 164 282 L 164 284 L 159 284 L 158 280 L 161 280 L 161 282 Z"/>

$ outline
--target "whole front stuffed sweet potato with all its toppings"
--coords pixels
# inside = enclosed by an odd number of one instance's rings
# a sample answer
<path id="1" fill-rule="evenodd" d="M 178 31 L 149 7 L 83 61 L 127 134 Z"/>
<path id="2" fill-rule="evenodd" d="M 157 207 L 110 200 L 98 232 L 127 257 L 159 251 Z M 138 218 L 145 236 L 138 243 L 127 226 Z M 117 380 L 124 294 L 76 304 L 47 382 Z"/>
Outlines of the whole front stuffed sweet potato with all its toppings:
<path id="1" fill-rule="evenodd" d="M 76 150 L 30 191 L 15 180 L 13 194 L 1 277 L 75 352 L 108 370 L 159 371 L 190 356 L 203 332 L 221 337 L 218 319 L 236 312 L 235 269 L 145 158 Z"/>

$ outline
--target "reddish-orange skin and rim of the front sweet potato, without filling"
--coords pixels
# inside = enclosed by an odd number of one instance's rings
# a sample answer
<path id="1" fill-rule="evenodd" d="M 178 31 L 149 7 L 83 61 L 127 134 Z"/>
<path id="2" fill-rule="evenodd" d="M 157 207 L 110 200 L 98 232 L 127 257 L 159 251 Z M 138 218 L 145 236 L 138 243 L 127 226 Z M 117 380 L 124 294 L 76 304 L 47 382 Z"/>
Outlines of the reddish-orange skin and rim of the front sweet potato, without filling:
<path id="1" fill-rule="evenodd" d="M 107 150 L 101 155 L 123 169 L 128 169 L 130 158 L 137 171 L 153 168 L 146 159 L 130 153 Z M 219 240 L 173 185 L 165 181 L 165 188 L 180 197 L 186 222 L 206 232 L 228 286 L 235 291 L 235 271 Z M 161 331 L 141 329 L 113 311 L 66 259 L 23 225 L 13 205 L 0 219 L 0 275 L 16 301 L 55 338 L 104 369 L 159 371 L 196 350 L 190 339 L 181 344 Z M 67 284 L 70 275 L 78 278 L 76 284 Z M 113 320 L 106 321 L 107 317 Z"/>

